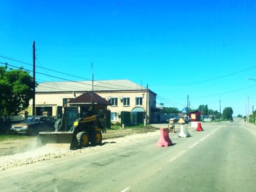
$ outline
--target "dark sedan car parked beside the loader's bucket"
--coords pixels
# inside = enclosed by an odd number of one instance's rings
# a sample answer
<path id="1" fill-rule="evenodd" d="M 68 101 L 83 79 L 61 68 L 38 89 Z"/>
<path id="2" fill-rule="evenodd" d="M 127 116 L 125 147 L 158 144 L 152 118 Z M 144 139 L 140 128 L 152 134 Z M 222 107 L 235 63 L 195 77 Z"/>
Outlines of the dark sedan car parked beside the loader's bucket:
<path id="1" fill-rule="evenodd" d="M 37 135 L 39 132 L 54 131 L 55 119 L 46 116 L 30 116 L 21 123 L 13 124 L 10 131 L 26 135 Z"/>

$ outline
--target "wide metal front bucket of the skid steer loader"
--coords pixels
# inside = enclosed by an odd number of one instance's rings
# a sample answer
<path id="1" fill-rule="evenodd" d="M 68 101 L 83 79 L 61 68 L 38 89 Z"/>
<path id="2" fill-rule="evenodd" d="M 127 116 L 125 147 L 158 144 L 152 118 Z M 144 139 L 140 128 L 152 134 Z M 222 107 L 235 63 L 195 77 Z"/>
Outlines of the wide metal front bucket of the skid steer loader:
<path id="1" fill-rule="evenodd" d="M 70 144 L 69 149 L 77 149 L 78 146 L 76 134 L 72 131 L 39 132 L 37 136 L 37 145 L 43 146 L 48 143 Z"/>

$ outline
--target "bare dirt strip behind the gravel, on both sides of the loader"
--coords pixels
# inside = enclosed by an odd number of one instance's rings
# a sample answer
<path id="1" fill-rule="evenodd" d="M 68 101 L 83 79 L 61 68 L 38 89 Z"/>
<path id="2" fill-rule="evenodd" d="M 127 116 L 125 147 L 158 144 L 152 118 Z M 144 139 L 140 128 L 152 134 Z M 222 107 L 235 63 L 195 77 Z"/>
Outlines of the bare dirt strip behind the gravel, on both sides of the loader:
<path id="1" fill-rule="evenodd" d="M 137 133 L 154 132 L 156 130 L 157 128 L 152 126 L 138 129 L 107 129 L 107 133 L 102 133 L 102 139 L 107 140 L 110 138 L 124 137 L 126 135 L 133 135 Z M 37 137 L 0 141 L 0 156 L 13 155 L 36 148 L 36 140 Z"/>

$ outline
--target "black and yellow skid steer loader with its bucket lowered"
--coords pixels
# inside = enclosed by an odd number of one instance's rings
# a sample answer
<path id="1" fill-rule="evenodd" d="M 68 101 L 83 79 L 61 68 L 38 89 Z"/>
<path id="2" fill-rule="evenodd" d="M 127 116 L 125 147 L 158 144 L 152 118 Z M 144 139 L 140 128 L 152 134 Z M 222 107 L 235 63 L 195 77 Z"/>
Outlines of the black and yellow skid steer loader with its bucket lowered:
<path id="1" fill-rule="evenodd" d="M 63 121 L 64 118 L 56 121 L 55 132 L 39 132 L 38 146 L 47 143 L 68 143 L 69 149 L 80 149 L 86 148 L 89 143 L 93 146 L 101 144 L 101 130 L 105 125 L 104 115 L 77 118 L 70 129 L 67 129 Z"/>

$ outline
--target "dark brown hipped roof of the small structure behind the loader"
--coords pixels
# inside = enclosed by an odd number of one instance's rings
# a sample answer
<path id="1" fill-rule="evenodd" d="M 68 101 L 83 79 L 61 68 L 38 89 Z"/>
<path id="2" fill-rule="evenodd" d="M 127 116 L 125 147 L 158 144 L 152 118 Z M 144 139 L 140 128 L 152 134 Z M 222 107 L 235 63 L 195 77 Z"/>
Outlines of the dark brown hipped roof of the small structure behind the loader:
<path id="1" fill-rule="evenodd" d="M 98 105 L 111 105 L 107 100 L 102 98 L 92 91 L 87 91 L 77 98 L 69 101 L 69 104 L 98 104 Z"/>

